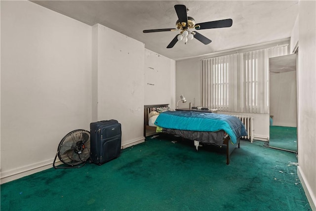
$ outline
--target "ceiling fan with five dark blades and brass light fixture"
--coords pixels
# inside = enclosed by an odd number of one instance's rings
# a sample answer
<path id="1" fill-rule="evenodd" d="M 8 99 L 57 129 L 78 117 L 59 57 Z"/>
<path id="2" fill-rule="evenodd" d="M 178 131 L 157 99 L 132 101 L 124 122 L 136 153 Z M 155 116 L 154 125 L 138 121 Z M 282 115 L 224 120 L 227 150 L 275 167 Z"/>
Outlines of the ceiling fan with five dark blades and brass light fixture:
<path id="1" fill-rule="evenodd" d="M 201 30 L 201 29 L 214 29 L 214 28 L 225 28 L 231 27 L 233 25 L 232 19 L 224 19 L 217 21 L 209 21 L 203 23 L 195 23 L 193 17 L 187 15 L 189 9 L 183 4 L 174 5 L 176 10 L 178 20 L 176 22 L 176 28 L 171 29 L 150 29 L 144 30 L 143 33 L 152 33 L 152 32 L 169 32 L 169 31 L 177 31 L 180 30 L 180 34 L 175 36 L 175 38 L 168 44 L 167 48 L 173 47 L 178 41 L 188 42 L 188 40 L 192 40 L 193 38 L 197 39 L 199 42 L 203 44 L 209 44 L 212 42 L 208 38 L 199 34 L 197 31 L 192 31 L 191 29 Z"/>

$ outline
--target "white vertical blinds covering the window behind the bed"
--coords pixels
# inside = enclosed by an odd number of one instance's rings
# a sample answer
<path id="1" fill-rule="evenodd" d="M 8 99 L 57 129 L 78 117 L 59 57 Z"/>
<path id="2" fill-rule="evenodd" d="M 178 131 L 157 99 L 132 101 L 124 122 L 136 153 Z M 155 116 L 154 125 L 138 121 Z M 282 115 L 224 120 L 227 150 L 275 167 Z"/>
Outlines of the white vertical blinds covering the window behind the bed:
<path id="1" fill-rule="evenodd" d="M 220 111 L 269 113 L 269 58 L 288 45 L 202 60 L 202 106 Z"/>

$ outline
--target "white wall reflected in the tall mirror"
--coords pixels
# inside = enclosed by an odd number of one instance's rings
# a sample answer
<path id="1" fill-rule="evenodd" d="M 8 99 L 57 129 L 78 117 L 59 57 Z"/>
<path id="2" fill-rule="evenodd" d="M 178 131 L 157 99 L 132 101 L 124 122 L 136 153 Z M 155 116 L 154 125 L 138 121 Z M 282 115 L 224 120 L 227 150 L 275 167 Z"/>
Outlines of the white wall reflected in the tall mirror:
<path id="1" fill-rule="evenodd" d="M 273 125 L 297 127 L 296 71 L 270 74 L 269 92 Z"/>

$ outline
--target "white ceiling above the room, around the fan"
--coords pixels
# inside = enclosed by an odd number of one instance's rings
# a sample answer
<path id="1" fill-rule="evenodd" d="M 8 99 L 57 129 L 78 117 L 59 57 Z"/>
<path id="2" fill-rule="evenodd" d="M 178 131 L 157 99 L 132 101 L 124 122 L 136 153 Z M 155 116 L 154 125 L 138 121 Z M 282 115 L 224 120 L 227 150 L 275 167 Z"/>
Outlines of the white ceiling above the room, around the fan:
<path id="1" fill-rule="evenodd" d="M 168 58 L 179 60 L 222 50 L 289 38 L 298 14 L 298 0 L 36 0 L 51 10 L 93 26 L 109 27 L 145 43 L 145 47 Z M 231 18 L 230 28 L 205 29 L 198 33 L 212 40 L 204 45 L 196 39 L 177 42 L 166 48 L 179 34 L 146 29 L 175 28 L 175 4 L 190 9 L 196 23 Z"/>

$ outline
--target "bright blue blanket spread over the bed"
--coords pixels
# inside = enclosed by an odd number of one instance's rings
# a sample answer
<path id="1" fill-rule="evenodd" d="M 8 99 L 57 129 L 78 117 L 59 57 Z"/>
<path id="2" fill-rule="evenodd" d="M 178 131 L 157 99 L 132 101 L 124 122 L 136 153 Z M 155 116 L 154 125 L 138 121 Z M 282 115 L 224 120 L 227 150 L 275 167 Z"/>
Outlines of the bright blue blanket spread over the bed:
<path id="1" fill-rule="evenodd" d="M 168 129 L 209 131 L 224 130 L 232 143 L 237 143 L 237 138 L 247 135 L 242 122 L 234 116 L 213 114 L 196 111 L 166 111 L 159 114 L 155 125 Z"/>

